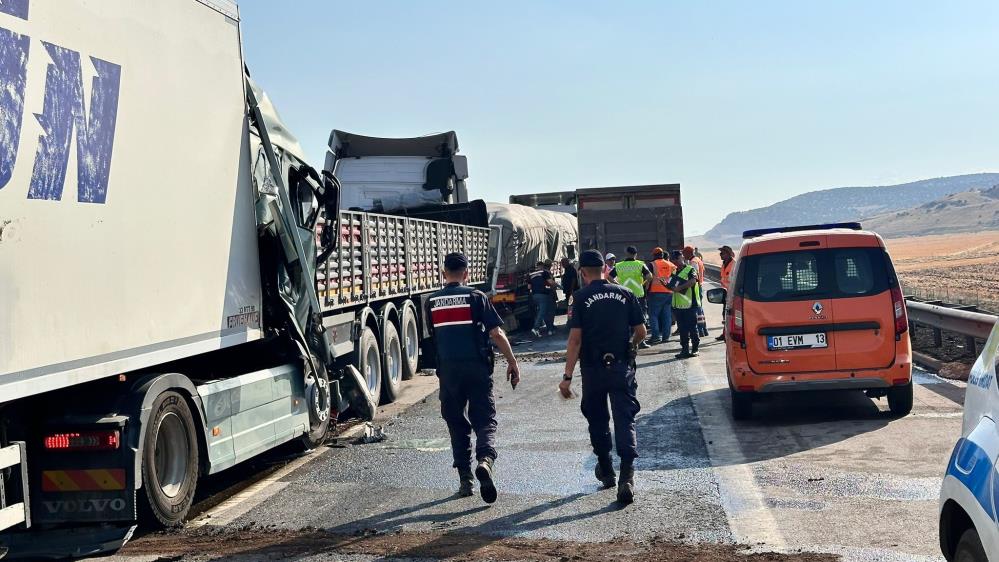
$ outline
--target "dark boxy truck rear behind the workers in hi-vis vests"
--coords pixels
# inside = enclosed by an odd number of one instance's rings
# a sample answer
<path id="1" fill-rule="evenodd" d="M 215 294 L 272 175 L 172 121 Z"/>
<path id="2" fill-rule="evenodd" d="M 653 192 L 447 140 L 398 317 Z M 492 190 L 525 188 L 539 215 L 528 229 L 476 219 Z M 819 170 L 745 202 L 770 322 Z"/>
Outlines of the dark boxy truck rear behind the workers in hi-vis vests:
<path id="1" fill-rule="evenodd" d="M 652 248 L 683 247 L 680 185 L 639 185 L 576 190 L 580 248 L 621 257 L 635 246 L 650 258 Z"/>

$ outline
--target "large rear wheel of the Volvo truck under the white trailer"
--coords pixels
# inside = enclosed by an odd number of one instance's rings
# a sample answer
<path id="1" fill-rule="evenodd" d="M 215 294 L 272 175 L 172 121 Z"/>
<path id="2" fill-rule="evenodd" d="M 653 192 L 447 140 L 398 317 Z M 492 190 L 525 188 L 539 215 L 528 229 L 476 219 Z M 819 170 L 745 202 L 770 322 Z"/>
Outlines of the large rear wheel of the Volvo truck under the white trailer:
<path id="1" fill-rule="evenodd" d="M 140 502 L 146 521 L 177 527 L 191 509 L 198 485 L 198 438 L 194 417 L 180 394 L 167 391 L 153 402 L 142 448 Z"/>

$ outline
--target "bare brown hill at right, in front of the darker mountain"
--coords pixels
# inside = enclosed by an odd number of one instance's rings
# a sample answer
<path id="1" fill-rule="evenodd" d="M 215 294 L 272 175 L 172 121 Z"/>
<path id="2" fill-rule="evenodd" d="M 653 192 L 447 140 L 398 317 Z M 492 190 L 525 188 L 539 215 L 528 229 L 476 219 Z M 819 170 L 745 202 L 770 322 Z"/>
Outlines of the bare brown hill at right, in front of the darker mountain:
<path id="1" fill-rule="evenodd" d="M 999 185 L 982 191 L 954 193 L 863 222 L 864 228 L 889 238 L 999 230 Z"/>

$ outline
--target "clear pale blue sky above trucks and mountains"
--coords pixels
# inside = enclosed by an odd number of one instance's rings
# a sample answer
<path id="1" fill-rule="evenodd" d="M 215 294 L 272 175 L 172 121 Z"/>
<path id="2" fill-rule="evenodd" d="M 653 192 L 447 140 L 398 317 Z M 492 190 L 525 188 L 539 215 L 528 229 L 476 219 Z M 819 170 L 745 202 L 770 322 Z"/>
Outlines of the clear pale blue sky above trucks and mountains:
<path id="1" fill-rule="evenodd" d="M 679 182 L 688 235 L 813 189 L 999 169 L 995 0 L 240 11 L 251 72 L 320 167 L 333 128 L 453 129 L 474 197 Z"/>

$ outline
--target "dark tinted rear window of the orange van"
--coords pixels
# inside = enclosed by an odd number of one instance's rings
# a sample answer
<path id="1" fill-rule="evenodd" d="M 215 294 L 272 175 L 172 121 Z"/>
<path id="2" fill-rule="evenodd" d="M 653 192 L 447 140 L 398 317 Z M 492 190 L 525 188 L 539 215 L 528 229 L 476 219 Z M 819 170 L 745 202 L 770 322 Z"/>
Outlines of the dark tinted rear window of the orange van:
<path id="1" fill-rule="evenodd" d="M 779 252 L 743 259 L 741 292 L 761 302 L 876 295 L 888 290 L 894 277 L 881 248 Z"/>

